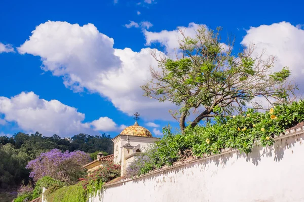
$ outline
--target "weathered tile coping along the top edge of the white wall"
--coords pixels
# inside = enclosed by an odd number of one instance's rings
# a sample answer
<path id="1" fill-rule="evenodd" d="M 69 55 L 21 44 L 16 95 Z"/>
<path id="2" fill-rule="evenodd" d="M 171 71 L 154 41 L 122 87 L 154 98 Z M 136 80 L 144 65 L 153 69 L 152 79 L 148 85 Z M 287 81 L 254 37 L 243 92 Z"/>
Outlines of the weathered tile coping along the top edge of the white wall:
<path id="1" fill-rule="evenodd" d="M 301 122 L 294 127 L 286 129 L 284 133 L 280 133 L 279 136 L 274 137 L 274 140 L 277 141 L 277 140 L 281 140 L 281 139 L 284 139 L 284 138 L 288 138 L 288 137 L 292 137 L 292 136 L 296 136 L 296 135 L 300 135 L 300 134 L 304 134 L 304 122 Z M 255 143 L 255 146 L 257 146 L 257 145 L 259 145 L 259 144 Z M 178 162 L 173 163 L 173 166 L 164 166 L 160 169 L 150 171 L 149 173 L 147 173 L 145 175 L 142 175 L 142 176 L 122 179 L 121 181 L 118 181 L 118 182 L 107 182 L 107 183 L 104 184 L 103 187 L 104 188 L 109 188 L 109 187 L 112 187 L 112 186 L 115 186 L 115 185 L 124 184 L 124 183 L 129 182 L 129 181 L 142 179 L 142 178 L 145 178 L 145 177 L 150 176 L 150 175 L 154 175 L 154 174 L 158 174 L 158 173 L 164 173 L 166 171 L 169 171 L 169 170 L 172 170 L 172 169 L 175 169 L 175 168 L 179 168 L 179 167 L 183 167 L 183 166 L 186 166 L 188 164 L 196 163 L 196 162 L 203 161 L 203 160 L 206 160 L 206 159 L 209 159 L 209 158 L 213 158 L 213 157 L 216 157 L 216 156 L 222 156 L 224 154 L 234 153 L 234 152 L 238 152 L 238 151 L 239 151 L 238 149 L 226 148 L 226 149 L 222 149 L 221 153 L 219 153 L 219 154 L 208 154 L 208 155 L 205 155 L 204 157 L 190 157 L 190 158 L 187 158 L 183 161 L 178 161 Z"/>

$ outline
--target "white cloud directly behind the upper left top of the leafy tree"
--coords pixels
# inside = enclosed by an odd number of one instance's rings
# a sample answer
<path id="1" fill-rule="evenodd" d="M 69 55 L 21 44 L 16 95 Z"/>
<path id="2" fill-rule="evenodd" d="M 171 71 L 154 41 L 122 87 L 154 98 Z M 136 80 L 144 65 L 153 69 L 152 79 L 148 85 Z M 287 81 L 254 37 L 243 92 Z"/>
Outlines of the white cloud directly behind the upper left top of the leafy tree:
<path id="1" fill-rule="evenodd" d="M 186 36 L 195 37 L 196 31 L 200 24 L 194 22 L 189 23 L 187 27 L 177 27 L 177 29 L 168 31 L 162 30 L 160 32 L 151 32 L 144 30 L 144 36 L 146 39 L 146 45 L 149 46 L 151 43 L 160 43 L 165 47 L 166 53 L 169 56 L 175 55 L 175 50 L 179 48 L 179 39 L 182 39 L 182 35 L 179 30 L 182 30 Z M 205 25 L 202 25 L 205 26 Z"/>

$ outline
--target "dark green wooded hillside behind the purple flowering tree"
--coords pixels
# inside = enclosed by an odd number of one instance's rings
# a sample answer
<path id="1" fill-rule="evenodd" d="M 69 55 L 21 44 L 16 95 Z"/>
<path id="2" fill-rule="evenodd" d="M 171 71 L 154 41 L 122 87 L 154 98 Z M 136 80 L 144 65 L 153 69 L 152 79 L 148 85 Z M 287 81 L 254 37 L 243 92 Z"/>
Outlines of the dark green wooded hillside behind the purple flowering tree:
<path id="1" fill-rule="evenodd" d="M 92 136 L 80 133 L 70 138 L 58 135 L 51 137 L 35 134 L 16 133 L 13 137 L 0 137 L 0 188 L 19 185 L 22 179 L 29 179 L 29 170 L 25 168 L 28 161 L 42 152 L 51 149 L 61 151 L 80 150 L 86 153 L 99 151 L 105 154 L 113 152 L 113 144 L 109 135 Z M 93 155 L 91 155 L 93 157 Z"/>

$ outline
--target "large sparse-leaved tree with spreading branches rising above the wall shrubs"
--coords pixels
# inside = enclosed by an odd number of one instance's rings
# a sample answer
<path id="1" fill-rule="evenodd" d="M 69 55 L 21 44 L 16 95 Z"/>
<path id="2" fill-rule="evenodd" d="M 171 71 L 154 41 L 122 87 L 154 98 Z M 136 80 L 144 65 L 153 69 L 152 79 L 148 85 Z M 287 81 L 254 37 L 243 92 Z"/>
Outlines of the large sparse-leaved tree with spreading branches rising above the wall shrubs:
<path id="1" fill-rule="evenodd" d="M 221 43 L 220 28 L 213 31 L 201 26 L 194 38 L 180 32 L 183 37 L 177 59 L 153 54 L 159 68 L 150 68 L 152 79 L 141 88 L 147 97 L 179 106 L 179 111 L 171 114 L 181 130 L 192 113 L 196 116 L 189 124 L 193 128 L 202 119 L 217 116 L 217 107 L 222 107 L 224 115 L 232 115 L 244 111 L 255 97 L 264 97 L 271 104 L 291 100 L 296 87 L 287 83 L 290 71 L 284 67 L 271 72 L 273 56 L 254 56 L 254 46 L 235 55 L 234 42 Z"/>

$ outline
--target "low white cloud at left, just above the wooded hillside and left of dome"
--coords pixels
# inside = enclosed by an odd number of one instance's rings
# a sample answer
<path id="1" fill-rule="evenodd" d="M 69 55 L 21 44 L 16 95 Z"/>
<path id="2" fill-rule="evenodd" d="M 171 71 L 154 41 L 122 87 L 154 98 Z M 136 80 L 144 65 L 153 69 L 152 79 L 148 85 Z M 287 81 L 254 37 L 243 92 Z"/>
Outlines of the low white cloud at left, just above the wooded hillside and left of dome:
<path id="1" fill-rule="evenodd" d="M 69 136 L 77 133 L 98 134 L 96 131 L 120 129 L 112 119 L 100 117 L 85 123 L 85 114 L 58 100 L 47 101 L 33 92 L 22 92 L 14 97 L 0 97 L 0 113 L 6 122 L 16 122 L 26 132 L 41 132 L 43 135 Z"/>

